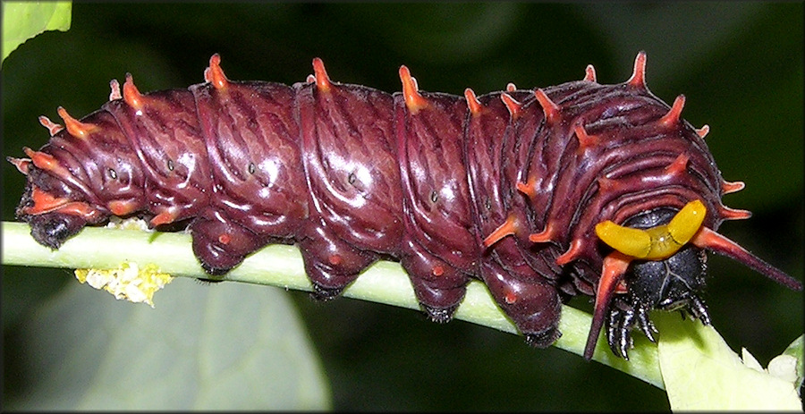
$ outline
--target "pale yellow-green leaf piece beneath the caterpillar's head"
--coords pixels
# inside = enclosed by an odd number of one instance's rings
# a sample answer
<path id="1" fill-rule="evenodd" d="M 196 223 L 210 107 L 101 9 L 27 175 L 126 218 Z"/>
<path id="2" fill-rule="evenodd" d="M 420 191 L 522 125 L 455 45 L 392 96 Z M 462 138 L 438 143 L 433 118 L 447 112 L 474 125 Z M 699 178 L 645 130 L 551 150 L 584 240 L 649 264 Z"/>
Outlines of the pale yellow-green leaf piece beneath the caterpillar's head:
<path id="1" fill-rule="evenodd" d="M 770 375 L 748 351 L 741 360 L 712 326 L 653 317 L 672 410 L 801 410 L 793 382 Z"/>

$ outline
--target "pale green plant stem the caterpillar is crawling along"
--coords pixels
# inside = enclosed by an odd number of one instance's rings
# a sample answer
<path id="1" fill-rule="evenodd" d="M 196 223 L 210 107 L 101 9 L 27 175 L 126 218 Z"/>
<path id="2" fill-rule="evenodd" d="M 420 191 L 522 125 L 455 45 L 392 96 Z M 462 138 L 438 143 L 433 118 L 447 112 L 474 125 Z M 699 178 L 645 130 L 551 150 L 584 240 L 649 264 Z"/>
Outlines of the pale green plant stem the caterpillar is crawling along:
<path id="1" fill-rule="evenodd" d="M 52 250 L 33 240 L 28 224 L 4 222 L 2 225 L 4 266 L 106 269 L 129 261 L 140 266 L 155 264 L 161 272 L 174 276 L 209 278 L 192 253 L 191 236 L 187 233 L 88 227 L 65 241 L 60 249 Z M 286 290 L 312 290 L 299 249 L 286 245 L 270 245 L 260 249 L 226 274 L 224 280 L 267 284 Z M 419 309 L 408 276 L 402 266 L 394 262 L 381 261 L 370 266 L 343 292 L 343 296 Z M 517 334 L 511 320 L 496 306 L 486 286 L 478 281 L 468 285 L 467 294 L 455 317 Z M 559 323 L 562 337 L 555 342 L 555 346 L 581 355 L 587 342 L 590 321 L 588 313 L 563 306 Z M 655 344 L 636 338 L 635 348 L 629 356 L 629 361 L 614 357 L 606 350 L 606 342 L 599 338 L 593 359 L 664 389 Z"/>

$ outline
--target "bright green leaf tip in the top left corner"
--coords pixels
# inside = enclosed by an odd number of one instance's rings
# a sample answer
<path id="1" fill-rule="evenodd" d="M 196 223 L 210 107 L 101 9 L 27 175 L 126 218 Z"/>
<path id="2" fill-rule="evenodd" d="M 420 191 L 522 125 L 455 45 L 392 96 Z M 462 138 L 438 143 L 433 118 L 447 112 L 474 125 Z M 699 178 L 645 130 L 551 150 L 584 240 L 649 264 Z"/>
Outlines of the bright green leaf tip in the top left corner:
<path id="1" fill-rule="evenodd" d="M 70 29 L 72 2 L 3 2 L 3 60 L 46 30 Z"/>

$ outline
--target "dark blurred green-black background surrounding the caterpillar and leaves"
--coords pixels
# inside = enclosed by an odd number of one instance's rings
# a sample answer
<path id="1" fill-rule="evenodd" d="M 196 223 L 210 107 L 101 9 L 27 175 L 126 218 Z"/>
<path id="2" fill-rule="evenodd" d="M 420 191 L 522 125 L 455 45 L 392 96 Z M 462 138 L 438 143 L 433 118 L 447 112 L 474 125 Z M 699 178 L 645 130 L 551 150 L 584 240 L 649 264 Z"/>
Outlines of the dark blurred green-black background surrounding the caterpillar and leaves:
<path id="1" fill-rule="evenodd" d="M 291 84 L 324 59 L 332 80 L 399 90 L 411 68 L 420 89 L 479 94 L 553 85 L 584 76 L 631 75 L 648 53 L 648 86 L 683 116 L 708 123 L 725 197 L 750 220 L 720 229 L 802 279 L 803 7 L 801 3 L 667 4 L 75 4 L 72 28 L 29 40 L 3 64 L 4 156 L 38 148 L 56 106 L 80 117 L 131 72 L 141 91 L 203 81 L 219 53 L 233 80 Z M 3 220 L 23 178 L 4 165 Z M 802 334 L 802 294 L 724 258 L 712 258 L 707 300 L 716 328 L 765 366 Z M 5 338 L 64 270 L 3 269 Z M 428 323 L 416 312 L 297 299 L 343 410 L 667 410 L 665 393 L 554 348 L 463 322 Z M 585 300 L 578 303 L 585 305 Z M 4 347 L 4 360 L 21 350 Z M 13 373 L 4 369 L 4 379 Z M 16 393 L 5 381 L 4 393 Z"/>

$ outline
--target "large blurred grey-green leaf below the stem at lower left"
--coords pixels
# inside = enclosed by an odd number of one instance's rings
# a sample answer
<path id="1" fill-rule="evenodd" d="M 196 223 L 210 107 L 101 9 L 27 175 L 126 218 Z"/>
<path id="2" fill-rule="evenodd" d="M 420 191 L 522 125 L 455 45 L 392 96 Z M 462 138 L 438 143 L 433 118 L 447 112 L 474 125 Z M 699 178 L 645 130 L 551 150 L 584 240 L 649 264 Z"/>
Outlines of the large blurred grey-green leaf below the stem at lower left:
<path id="1" fill-rule="evenodd" d="M 156 308 L 72 283 L 29 320 L 12 410 L 329 407 L 318 358 L 284 291 L 179 279 Z"/>

